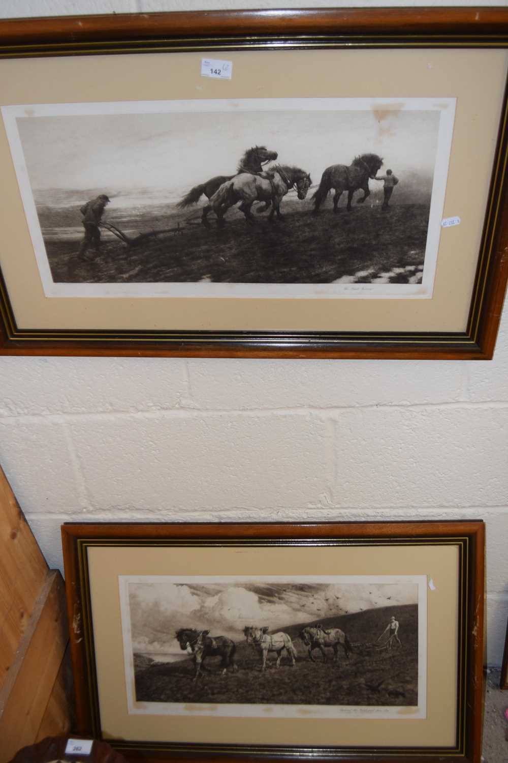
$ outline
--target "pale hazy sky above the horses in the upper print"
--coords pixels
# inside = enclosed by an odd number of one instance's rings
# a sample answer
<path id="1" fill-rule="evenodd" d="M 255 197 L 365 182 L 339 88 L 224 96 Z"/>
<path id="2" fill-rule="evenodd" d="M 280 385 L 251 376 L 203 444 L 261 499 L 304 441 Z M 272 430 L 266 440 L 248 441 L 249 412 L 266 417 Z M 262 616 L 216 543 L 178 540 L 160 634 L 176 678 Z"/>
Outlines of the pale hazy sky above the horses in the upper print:
<path id="1" fill-rule="evenodd" d="M 199 101 L 194 104 L 199 108 Z M 38 115 L 34 107 L 28 110 L 34 115 L 18 116 L 16 124 L 30 184 L 39 192 L 101 188 L 113 199 L 150 188 L 179 196 L 213 175 L 234 174 L 244 150 L 255 144 L 310 172 L 315 183 L 327 166 L 350 164 L 368 152 L 382 156 L 383 169 L 399 178 L 404 172 L 432 176 L 440 112 L 430 104 L 427 110 L 425 104 L 384 111 L 365 106 L 235 111 L 225 104 L 228 111 L 80 114 L 91 105 L 75 104 L 76 115 Z"/>

